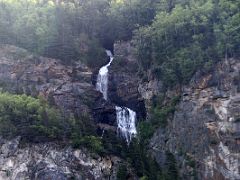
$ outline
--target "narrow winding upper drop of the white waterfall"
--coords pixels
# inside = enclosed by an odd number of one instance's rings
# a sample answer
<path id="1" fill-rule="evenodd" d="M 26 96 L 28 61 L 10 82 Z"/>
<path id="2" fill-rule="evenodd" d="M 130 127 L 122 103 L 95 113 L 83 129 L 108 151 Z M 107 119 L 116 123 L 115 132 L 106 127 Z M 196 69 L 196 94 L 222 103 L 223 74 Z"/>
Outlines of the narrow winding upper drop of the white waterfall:
<path id="1" fill-rule="evenodd" d="M 98 73 L 96 89 L 103 94 L 103 98 L 107 100 L 107 91 L 108 91 L 108 67 L 113 61 L 113 55 L 111 51 L 106 50 L 110 61 L 107 65 L 103 66 Z"/>

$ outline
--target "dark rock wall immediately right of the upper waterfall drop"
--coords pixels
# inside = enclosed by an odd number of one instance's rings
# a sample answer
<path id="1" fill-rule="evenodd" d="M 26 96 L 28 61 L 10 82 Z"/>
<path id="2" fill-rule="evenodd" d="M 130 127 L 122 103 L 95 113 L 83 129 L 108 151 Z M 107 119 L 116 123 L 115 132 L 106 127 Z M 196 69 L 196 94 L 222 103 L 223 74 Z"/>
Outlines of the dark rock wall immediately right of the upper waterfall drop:
<path id="1" fill-rule="evenodd" d="M 109 69 L 109 99 L 137 112 L 137 119 L 146 117 L 144 100 L 138 91 L 137 60 L 130 42 L 114 44 L 114 61 Z"/>

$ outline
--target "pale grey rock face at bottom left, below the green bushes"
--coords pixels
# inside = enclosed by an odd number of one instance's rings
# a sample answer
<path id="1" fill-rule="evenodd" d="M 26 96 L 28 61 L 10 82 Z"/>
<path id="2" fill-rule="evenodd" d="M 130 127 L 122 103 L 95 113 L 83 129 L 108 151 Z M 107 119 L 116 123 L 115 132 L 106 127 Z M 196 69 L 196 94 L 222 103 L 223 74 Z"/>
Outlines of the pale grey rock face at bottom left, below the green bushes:
<path id="1" fill-rule="evenodd" d="M 84 149 L 63 148 L 55 143 L 21 147 L 19 140 L 0 139 L 0 179 L 116 179 L 121 162 L 117 157 L 93 158 Z"/>

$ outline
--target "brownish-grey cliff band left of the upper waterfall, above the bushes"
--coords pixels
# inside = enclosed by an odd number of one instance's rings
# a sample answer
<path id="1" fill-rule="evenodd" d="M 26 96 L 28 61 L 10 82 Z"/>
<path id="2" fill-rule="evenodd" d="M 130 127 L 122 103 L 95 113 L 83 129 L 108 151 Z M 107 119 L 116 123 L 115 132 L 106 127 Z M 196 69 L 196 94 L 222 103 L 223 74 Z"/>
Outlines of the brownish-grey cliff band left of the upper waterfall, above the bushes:
<path id="1" fill-rule="evenodd" d="M 34 57 L 14 47 L 0 48 L 0 85 L 10 92 L 41 95 L 66 113 L 90 116 L 101 97 L 91 84 L 92 72 L 82 64 L 63 65 L 59 60 Z"/>

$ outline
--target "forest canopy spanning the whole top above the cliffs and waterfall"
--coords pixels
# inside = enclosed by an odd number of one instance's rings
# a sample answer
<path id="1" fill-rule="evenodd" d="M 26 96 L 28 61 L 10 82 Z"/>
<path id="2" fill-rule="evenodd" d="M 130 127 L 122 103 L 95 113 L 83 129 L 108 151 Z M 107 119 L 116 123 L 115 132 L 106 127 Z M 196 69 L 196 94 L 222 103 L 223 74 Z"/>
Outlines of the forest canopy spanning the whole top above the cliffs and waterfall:
<path id="1" fill-rule="evenodd" d="M 229 0 L 1 0 L 0 42 L 94 66 L 104 48 L 133 39 L 139 74 L 151 69 L 174 85 L 239 56 L 239 8 Z"/>

